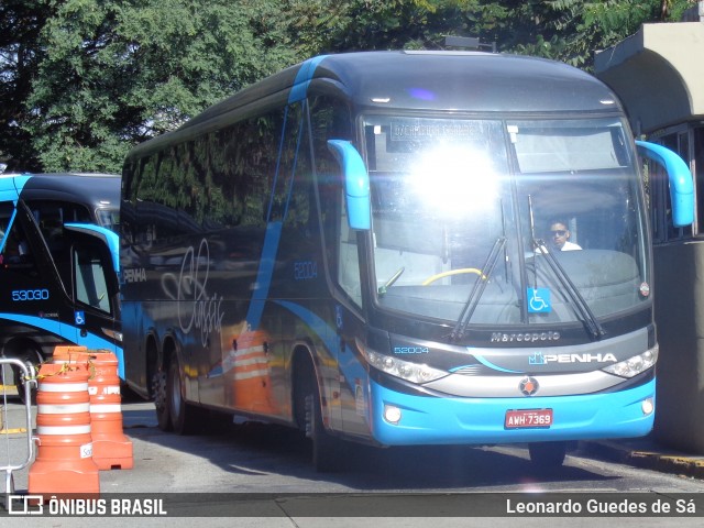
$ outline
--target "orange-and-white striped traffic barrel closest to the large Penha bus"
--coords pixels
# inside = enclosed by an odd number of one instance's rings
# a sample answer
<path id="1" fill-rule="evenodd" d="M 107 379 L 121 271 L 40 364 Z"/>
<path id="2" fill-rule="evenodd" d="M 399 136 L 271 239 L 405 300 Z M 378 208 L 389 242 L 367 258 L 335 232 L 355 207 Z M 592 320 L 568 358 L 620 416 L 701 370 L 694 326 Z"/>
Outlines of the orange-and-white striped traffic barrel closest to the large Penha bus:
<path id="1" fill-rule="evenodd" d="M 112 352 L 91 354 L 90 427 L 92 460 L 100 470 L 131 470 L 132 441 L 122 432 L 122 397 L 118 356 Z"/>

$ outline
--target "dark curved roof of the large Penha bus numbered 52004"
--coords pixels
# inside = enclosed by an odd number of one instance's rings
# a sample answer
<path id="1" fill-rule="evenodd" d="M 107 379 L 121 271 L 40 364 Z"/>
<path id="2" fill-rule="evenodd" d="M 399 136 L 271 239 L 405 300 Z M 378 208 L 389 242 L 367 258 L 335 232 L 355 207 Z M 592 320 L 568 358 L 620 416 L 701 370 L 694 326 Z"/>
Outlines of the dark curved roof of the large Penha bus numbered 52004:
<path id="1" fill-rule="evenodd" d="M 380 111 L 622 112 L 616 95 L 601 80 L 554 61 L 483 52 L 345 53 L 315 57 L 255 82 L 147 142 L 145 150 L 217 129 L 257 101 L 330 89 L 345 94 L 358 109 Z"/>

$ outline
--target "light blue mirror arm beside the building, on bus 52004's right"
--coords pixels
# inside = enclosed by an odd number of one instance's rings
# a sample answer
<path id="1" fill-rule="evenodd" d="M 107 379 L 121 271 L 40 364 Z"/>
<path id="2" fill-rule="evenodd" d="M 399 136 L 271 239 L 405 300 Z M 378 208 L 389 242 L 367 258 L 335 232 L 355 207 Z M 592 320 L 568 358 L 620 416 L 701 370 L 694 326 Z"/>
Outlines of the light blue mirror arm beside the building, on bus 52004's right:
<path id="1" fill-rule="evenodd" d="M 692 173 L 684 161 L 674 152 L 656 143 L 636 141 L 638 153 L 661 165 L 670 180 L 672 200 L 672 223 L 676 228 L 694 222 L 694 184 Z"/>

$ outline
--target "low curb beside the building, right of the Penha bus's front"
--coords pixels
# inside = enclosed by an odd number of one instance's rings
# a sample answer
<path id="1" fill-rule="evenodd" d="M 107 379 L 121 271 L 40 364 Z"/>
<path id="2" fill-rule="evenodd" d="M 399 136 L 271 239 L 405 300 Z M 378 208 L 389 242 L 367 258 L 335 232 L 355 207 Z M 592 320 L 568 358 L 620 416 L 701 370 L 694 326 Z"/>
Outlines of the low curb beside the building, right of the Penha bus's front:
<path id="1" fill-rule="evenodd" d="M 581 442 L 580 449 L 597 458 L 629 464 L 644 470 L 671 473 L 691 479 L 704 479 L 704 457 L 669 454 L 637 449 L 615 441 Z"/>

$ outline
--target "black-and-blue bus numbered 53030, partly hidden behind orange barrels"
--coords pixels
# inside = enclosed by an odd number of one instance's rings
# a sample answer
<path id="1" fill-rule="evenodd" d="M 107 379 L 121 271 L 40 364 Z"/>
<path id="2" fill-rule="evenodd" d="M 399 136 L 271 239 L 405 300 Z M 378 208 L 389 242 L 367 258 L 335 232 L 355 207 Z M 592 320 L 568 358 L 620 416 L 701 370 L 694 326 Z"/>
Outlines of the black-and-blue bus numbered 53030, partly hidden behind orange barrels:
<path id="1" fill-rule="evenodd" d="M 119 201 L 119 175 L 0 175 L 1 356 L 36 367 L 78 344 L 121 359 Z"/>

